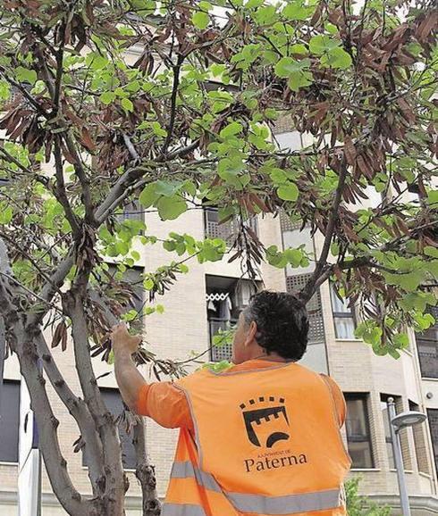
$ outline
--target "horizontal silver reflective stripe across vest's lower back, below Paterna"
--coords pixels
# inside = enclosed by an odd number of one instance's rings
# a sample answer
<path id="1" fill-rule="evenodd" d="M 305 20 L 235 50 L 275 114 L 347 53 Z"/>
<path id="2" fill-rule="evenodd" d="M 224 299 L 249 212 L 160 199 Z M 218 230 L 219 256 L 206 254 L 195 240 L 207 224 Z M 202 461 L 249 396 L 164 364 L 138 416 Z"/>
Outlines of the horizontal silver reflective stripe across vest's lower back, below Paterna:
<path id="1" fill-rule="evenodd" d="M 286 496 L 243 495 L 241 493 L 225 493 L 225 495 L 240 512 L 294 514 L 339 507 L 341 491 L 332 489 Z"/>

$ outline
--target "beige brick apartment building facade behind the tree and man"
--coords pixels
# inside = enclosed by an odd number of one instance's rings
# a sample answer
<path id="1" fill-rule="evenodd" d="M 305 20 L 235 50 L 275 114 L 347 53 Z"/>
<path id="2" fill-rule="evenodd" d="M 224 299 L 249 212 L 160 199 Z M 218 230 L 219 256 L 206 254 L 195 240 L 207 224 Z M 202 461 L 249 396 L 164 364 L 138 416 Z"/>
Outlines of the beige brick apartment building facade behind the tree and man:
<path id="1" fill-rule="evenodd" d="M 279 127 L 276 135 L 279 145 L 297 148 L 303 144 L 293 133 Z M 130 213 L 126 214 L 130 216 Z M 163 238 L 170 231 L 190 232 L 198 240 L 206 236 L 223 237 L 231 241 L 232 224 L 219 225 L 217 212 L 208 209 L 190 210 L 176 221 L 160 221 L 156 213 L 146 214 L 147 233 Z M 319 254 L 323 237 L 310 235 L 308 229 L 291 224 L 285 217 L 258 217 L 251 222 L 258 237 L 267 246 L 287 248 L 304 244 L 308 251 Z M 189 230 L 188 230 L 189 229 Z M 141 256 L 133 275 L 142 271 L 156 270 L 170 262 L 173 255 L 164 252 L 160 244 L 141 246 L 136 244 Z M 256 284 L 242 277 L 240 262 L 199 264 L 190 262 L 190 273 L 184 275 L 166 294 L 163 300 L 164 313 L 147 317 L 146 340 L 159 357 L 175 360 L 187 359 L 190 354 L 200 354 L 208 349 L 212 337 L 219 329 L 225 329 L 235 321 L 240 310 L 248 304 L 255 287 L 273 290 L 296 291 L 302 287 L 312 265 L 307 269 L 279 270 L 263 264 Z M 351 476 L 360 475 L 360 490 L 379 503 L 391 504 L 393 514 L 398 509 L 398 485 L 392 456 L 391 434 L 386 401 L 392 396 L 399 412 L 419 410 L 427 412 L 428 422 L 414 429 L 402 431 L 403 462 L 409 486 L 409 495 L 414 516 L 438 514 L 437 464 L 438 464 L 438 340 L 437 327 L 415 336 L 410 332 L 410 347 L 403 351 L 399 360 L 375 356 L 372 349 L 354 337 L 358 314 L 334 295 L 328 283 L 320 287 L 308 304 L 310 312 L 310 336 L 307 353 L 301 363 L 307 367 L 330 374 L 340 385 L 348 405 L 346 425 L 342 429 L 353 464 Z M 438 313 L 434 312 L 438 320 Z M 47 335 L 50 339 L 50 335 Z M 54 350 L 60 369 L 72 389 L 80 395 L 72 346 L 66 352 L 59 347 Z M 224 346 L 213 348 L 209 360 L 230 357 Z M 207 356 L 207 355 L 206 355 Z M 105 401 L 116 413 L 121 409 L 112 366 L 96 359 L 96 375 L 110 373 L 99 379 Z M 150 371 L 143 369 L 150 381 Z M 4 388 L 0 420 L 0 514 L 17 514 L 17 485 L 19 457 L 20 418 L 20 369 L 15 357 L 5 362 Z M 47 382 L 48 384 L 48 382 Z M 81 493 L 89 494 L 86 458 L 74 453 L 73 442 L 79 430 L 62 402 L 47 385 L 55 416 L 60 420 L 59 438 L 62 451 L 68 462 L 68 470 Z M 21 419 L 21 420 L 20 420 Z M 164 496 L 173 462 L 178 430 L 161 429 L 153 421 L 147 421 L 147 445 L 151 462 L 156 465 L 156 477 L 160 496 Z M 139 486 L 132 468 L 134 457 L 129 439 L 122 433 L 124 461 L 129 471 L 131 488 L 127 497 L 127 514 L 140 516 Z M 42 473 L 42 514 L 64 514 L 51 493 L 51 488 Z"/>

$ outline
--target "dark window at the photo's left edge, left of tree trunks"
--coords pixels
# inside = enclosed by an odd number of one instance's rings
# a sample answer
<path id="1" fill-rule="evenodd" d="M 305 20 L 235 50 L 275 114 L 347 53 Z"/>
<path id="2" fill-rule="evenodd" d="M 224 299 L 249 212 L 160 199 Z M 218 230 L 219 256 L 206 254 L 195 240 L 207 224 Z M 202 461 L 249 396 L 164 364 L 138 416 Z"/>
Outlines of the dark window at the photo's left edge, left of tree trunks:
<path id="1" fill-rule="evenodd" d="M 4 380 L 0 393 L 0 462 L 18 462 L 20 382 Z"/>

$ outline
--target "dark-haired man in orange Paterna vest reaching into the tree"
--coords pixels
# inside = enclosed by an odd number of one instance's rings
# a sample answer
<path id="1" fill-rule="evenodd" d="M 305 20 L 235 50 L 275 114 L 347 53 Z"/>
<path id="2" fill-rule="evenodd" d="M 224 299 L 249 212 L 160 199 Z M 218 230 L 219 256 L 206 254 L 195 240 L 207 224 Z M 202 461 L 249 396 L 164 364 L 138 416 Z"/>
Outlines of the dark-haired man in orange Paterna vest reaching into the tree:
<path id="1" fill-rule="evenodd" d="M 297 297 L 264 291 L 240 314 L 230 369 L 147 384 L 131 360 L 140 337 L 114 328 L 126 404 L 181 429 L 163 516 L 347 514 L 345 400 L 332 379 L 296 363 L 307 331 Z"/>

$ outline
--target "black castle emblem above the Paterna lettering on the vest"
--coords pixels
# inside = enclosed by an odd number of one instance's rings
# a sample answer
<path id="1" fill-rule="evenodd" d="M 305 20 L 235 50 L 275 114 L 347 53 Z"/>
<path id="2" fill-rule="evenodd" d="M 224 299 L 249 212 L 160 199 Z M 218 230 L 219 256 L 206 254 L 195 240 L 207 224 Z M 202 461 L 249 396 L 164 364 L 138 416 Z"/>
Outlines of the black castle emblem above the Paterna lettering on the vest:
<path id="1" fill-rule="evenodd" d="M 258 447 L 272 448 L 279 441 L 287 441 L 289 418 L 284 398 L 260 396 L 240 404 L 249 442 Z"/>

